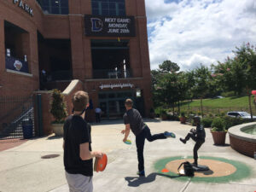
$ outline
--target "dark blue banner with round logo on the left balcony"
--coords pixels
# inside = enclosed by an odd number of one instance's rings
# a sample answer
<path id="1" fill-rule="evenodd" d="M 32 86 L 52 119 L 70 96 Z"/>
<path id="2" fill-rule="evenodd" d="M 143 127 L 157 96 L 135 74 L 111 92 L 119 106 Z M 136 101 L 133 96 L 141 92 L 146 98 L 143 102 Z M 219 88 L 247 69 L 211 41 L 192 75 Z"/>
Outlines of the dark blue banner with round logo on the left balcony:
<path id="1" fill-rule="evenodd" d="M 5 67 L 10 70 L 28 73 L 27 62 L 15 59 L 11 56 L 5 56 Z"/>

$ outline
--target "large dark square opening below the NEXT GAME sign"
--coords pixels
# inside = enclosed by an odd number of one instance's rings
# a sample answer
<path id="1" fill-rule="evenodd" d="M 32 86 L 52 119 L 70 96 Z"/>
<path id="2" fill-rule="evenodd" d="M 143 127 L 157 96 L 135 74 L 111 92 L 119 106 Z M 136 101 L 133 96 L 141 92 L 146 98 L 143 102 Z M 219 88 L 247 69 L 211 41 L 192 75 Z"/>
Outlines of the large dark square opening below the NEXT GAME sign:
<path id="1" fill-rule="evenodd" d="M 93 78 L 132 78 L 128 44 L 125 39 L 91 39 Z"/>

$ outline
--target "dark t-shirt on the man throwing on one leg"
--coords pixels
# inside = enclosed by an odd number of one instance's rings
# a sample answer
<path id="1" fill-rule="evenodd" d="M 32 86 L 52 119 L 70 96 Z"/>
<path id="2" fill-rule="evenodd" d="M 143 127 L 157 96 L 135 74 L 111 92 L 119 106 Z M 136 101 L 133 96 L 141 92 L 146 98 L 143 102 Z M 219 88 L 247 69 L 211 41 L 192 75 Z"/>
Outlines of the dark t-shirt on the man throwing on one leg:
<path id="1" fill-rule="evenodd" d="M 124 123 L 130 124 L 131 131 L 134 135 L 138 135 L 141 131 L 143 131 L 145 124 L 143 122 L 143 118 L 141 114 L 135 108 L 131 108 L 124 114 Z"/>

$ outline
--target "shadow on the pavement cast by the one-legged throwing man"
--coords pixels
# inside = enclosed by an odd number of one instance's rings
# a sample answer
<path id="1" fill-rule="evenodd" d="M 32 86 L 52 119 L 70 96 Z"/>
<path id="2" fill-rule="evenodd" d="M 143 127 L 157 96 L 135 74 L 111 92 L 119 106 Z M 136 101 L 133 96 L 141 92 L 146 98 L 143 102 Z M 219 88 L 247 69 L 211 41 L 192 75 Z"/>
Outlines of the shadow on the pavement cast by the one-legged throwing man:
<path id="1" fill-rule="evenodd" d="M 161 173 L 158 173 L 158 172 L 152 172 L 147 177 L 125 177 L 125 180 L 128 182 L 128 186 L 138 187 L 143 183 L 154 182 L 155 177 L 157 175 L 163 176 L 163 177 L 169 177 L 169 178 L 181 177 L 181 176 L 169 176 L 169 175 L 161 174 Z"/>

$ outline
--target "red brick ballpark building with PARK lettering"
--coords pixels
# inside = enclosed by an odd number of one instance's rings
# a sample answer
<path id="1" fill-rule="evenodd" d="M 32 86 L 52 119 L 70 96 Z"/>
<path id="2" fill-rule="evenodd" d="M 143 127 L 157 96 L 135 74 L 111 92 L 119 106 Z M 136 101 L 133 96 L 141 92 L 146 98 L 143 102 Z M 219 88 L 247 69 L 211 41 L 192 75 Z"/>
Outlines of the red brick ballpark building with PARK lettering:
<path id="1" fill-rule="evenodd" d="M 148 116 L 144 0 L 0 1 L 0 96 L 65 90 L 72 79 L 105 118 L 121 117 L 127 97 Z"/>

